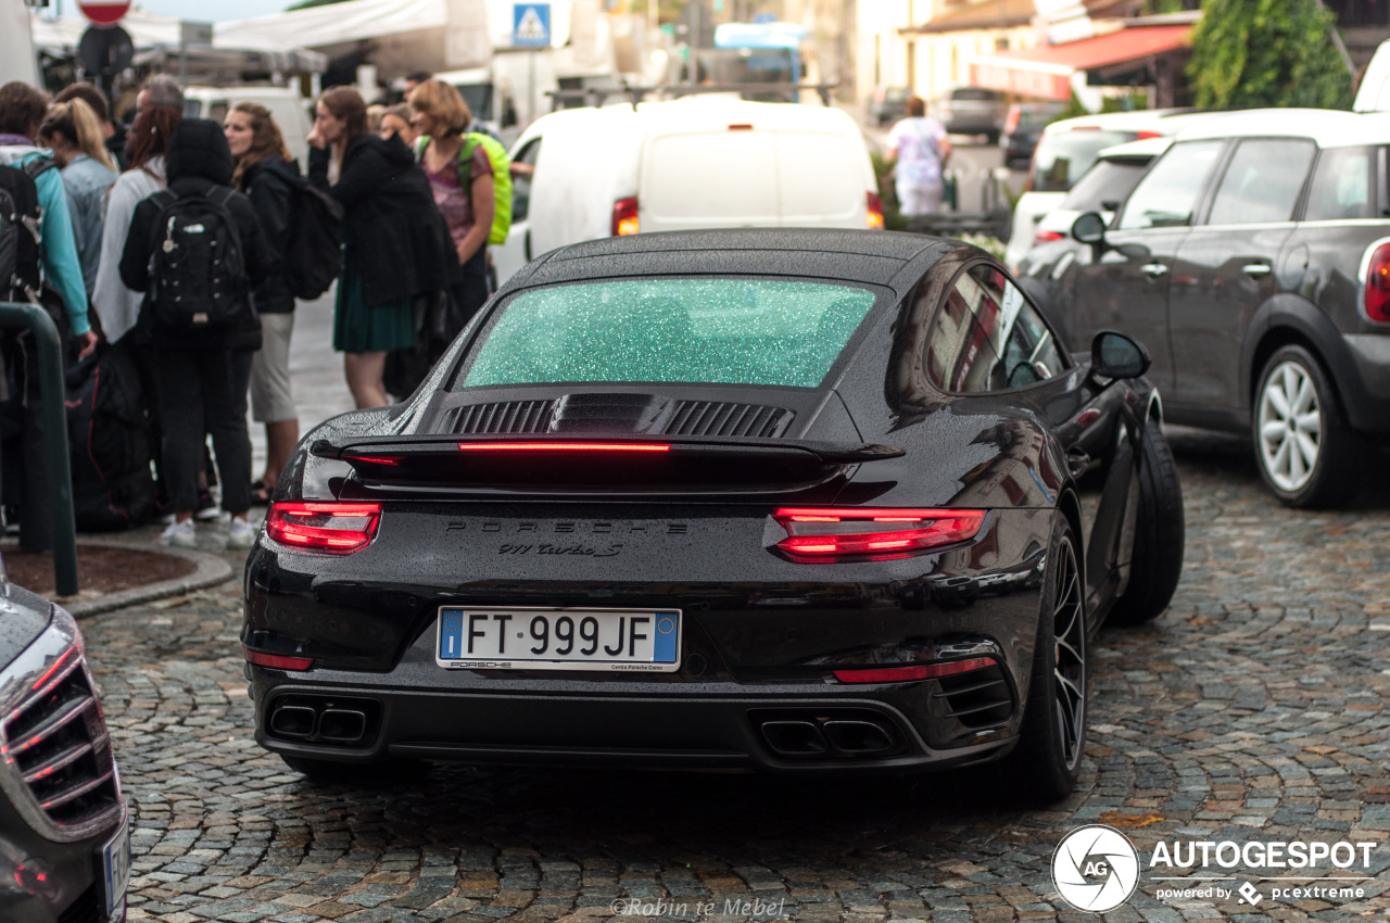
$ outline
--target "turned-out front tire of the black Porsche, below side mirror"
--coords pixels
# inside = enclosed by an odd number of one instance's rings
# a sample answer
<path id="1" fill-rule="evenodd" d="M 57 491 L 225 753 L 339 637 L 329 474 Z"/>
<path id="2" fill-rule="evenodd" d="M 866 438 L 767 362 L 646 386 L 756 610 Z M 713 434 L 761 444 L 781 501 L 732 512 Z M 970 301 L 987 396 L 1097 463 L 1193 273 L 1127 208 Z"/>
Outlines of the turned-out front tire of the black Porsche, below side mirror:
<path id="1" fill-rule="evenodd" d="M 1150 420 L 1140 435 L 1137 477 L 1129 585 L 1109 614 L 1118 626 L 1140 626 L 1162 614 L 1183 575 L 1183 488 L 1158 420 Z"/>

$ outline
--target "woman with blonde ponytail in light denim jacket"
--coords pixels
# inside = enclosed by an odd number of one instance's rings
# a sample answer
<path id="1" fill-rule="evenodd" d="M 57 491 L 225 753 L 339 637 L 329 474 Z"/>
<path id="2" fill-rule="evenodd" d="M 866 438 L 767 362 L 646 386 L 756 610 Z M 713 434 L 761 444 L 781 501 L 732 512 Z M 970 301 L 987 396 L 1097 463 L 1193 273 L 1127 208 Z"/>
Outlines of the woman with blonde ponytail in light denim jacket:
<path id="1" fill-rule="evenodd" d="M 63 170 L 82 284 L 90 299 L 101 263 L 101 211 L 106 190 L 115 182 L 115 164 L 106 152 L 100 120 L 82 99 L 49 107 L 39 128 L 39 143 L 53 149 L 53 160 Z"/>

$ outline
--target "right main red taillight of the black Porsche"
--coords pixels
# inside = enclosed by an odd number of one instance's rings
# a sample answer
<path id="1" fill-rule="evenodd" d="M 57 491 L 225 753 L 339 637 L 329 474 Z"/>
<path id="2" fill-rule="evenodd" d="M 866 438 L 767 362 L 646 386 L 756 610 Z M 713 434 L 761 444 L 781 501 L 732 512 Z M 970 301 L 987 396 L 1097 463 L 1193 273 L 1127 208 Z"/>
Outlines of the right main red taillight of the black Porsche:
<path id="1" fill-rule="evenodd" d="M 984 510 L 780 509 L 773 518 L 787 530 L 777 548 L 826 560 L 955 545 L 980 531 Z"/>

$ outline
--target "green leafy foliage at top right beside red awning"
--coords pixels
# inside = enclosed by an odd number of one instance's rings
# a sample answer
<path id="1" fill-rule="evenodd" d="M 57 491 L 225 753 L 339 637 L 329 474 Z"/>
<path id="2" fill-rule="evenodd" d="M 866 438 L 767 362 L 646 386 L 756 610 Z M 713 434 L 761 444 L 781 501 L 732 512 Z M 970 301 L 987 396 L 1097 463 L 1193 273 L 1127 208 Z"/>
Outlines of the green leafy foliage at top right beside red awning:
<path id="1" fill-rule="evenodd" d="M 1213 0 L 1193 35 L 1197 106 L 1351 108 L 1351 72 L 1318 0 Z"/>

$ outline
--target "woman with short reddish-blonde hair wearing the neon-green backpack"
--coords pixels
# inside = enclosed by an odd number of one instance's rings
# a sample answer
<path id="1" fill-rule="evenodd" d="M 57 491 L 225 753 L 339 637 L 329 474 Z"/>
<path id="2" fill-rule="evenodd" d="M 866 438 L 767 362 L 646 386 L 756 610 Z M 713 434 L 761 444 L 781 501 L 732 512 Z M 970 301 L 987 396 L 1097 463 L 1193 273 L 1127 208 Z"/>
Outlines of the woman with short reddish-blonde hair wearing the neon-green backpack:
<path id="1" fill-rule="evenodd" d="M 463 96 L 443 81 L 425 81 L 410 93 L 416 156 L 459 254 L 460 271 L 449 288 L 460 329 L 488 300 L 488 235 L 496 209 L 488 152 L 463 136 L 471 121 Z"/>

